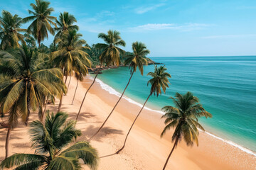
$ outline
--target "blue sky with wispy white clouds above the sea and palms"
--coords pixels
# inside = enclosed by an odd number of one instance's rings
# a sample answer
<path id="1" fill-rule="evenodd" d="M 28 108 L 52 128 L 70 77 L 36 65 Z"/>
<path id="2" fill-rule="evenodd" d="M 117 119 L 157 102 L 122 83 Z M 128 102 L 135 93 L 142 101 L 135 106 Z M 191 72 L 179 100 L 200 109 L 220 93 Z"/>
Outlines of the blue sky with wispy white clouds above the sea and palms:
<path id="1" fill-rule="evenodd" d="M 0 10 L 26 17 L 34 2 L 0 0 Z M 127 43 L 124 50 L 140 41 L 149 57 L 256 55 L 255 0 L 52 0 L 50 7 L 52 16 L 73 14 L 89 45 L 112 29 Z"/>

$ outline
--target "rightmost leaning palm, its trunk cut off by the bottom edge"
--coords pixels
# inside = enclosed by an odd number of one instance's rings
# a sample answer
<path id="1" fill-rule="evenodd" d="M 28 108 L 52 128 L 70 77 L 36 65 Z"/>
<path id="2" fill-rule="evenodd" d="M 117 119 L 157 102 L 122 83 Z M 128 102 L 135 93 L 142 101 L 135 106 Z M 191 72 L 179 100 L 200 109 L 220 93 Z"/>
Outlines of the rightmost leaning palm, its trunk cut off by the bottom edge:
<path id="1" fill-rule="evenodd" d="M 166 127 L 161 133 L 161 137 L 170 128 L 175 128 L 174 135 L 171 137 L 174 147 L 166 159 L 163 170 L 166 168 L 174 148 L 177 147 L 182 138 L 185 140 L 186 145 L 193 146 L 193 142 L 196 142 L 198 146 L 198 128 L 204 131 L 203 126 L 198 123 L 198 118 L 202 116 L 212 118 L 212 115 L 198 103 L 199 99 L 189 91 L 184 95 L 176 93 L 175 98 L 171 97 L 171 99 L 174 101 L 175 107 L 164 106 L 162 108 L 165 114 L 161 118 L 166 118 L 164 121 Z"/>

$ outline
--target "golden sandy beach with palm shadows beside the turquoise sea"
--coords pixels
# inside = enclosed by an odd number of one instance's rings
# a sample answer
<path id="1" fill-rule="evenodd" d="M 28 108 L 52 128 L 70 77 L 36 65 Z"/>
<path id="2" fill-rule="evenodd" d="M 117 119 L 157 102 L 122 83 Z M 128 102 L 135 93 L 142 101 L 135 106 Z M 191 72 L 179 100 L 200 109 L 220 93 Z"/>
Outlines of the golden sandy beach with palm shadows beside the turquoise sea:
<path id="1" fill-rule="evenodd" d="M 69 79 L 68 79 L 69 80 Z M 78 113 L 82 97 L 92 79 L 88 77 L 79 84 L 75 101 L 71 105 L 75 91 L 76 80 L 70 83 L 67 96 L 63 96 L 61 111 L 69 113 L 70 119 L 75 119 Z M 125 94 L 124 94 L 125 95 Z M 87 140 L 100 127 L 102 121 L 112 110 L 118 97 L 110 94 L 95 83 L 90 93 L 87 94 L 77 128 L 82 131 L 78 141 Z M 50 111 L 56 111 L 55 106 L 48 106 Z M 161 114 L 144 109 L 142 115 L 134 125 L 127 140 L 127 145 L 119 154 L 114 154 L 122 147 L 124 137 L 132 125 L 132 120 L 139 112 L 140 107 L 134 103 L 122 99 L 108 120 L 105 128 L 92 139 L 91 144 L 97 148 L 100 155 L 98 169 L 162 169 L 166 157 L 171 151 L 172 131 L 170 130 L 164 138 L 160 138 L 164 128 L 164 120 Z M 38 118 L 36 113 L 31 113 L 30 121 Z M 0 161 L 4 159 L 4 145 L 7 129 L 0 129 Z M 9 154 L 33 153 L 28 135 L 28 127 L 19 123 L 18 127 L 11 132 Z M 113 155 L 112 155 L 113 154 Z M 82 166 L 87 169 L 85 165 Z M 167 169 L 256 169 L 256 157 L 247 154 L 237 147 L 233 147 L 221 140 L 211 137 L 205 132 L 199 135 L 199 147 L 187 147 L 184 142 L 171 155 Z"/>

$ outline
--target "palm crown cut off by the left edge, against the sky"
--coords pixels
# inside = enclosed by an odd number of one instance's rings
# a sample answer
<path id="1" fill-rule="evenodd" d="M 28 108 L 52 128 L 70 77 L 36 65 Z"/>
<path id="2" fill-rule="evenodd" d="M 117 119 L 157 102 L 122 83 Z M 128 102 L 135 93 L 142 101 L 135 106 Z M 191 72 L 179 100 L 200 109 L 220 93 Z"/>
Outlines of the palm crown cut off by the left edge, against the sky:
<path id="1" fill-rule="evenodd" d="M 2 11 L 0 17 L 0 25 L 2 26 L 0 27 L 1 50 L 20 47 L 18 41 L 26 44 L 23 40 L 24 36 L 21 34 L 21 32 L 26 32 L 26 29 L 21 29 L 22 23 L 22 18 L 18 15 L 13 16 L 8 11 Z"/>

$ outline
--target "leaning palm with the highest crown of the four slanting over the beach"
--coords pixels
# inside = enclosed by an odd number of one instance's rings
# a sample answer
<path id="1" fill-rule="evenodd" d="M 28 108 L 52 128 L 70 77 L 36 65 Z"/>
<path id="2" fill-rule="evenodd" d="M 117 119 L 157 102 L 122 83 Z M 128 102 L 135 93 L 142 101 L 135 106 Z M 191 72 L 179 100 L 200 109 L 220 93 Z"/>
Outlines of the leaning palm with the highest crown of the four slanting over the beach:
<path id="1" fill-rule="evenodd" d="M 100 68 L 102 67 L 102 64 L 105 63 L 107 66 L 110 66 L 110 64 L 117 65 L 119 66 L 119 61 L 120 61 L 120 52 L 124 53 L 124 50 L 121 48 L 117 47 L 119 45 L 125 46 L 124 40 L 120 37 L 120 33 L 117 30 L 109 30 L 107 31 L 107 34 L 105 33 L 100 33 L 98 35 L 98 38 L 102 38 L 106 43 L 98 43 L 96 47 L 98 49 L 103 50 L 102 53 L 100 54 L 99 60 L 100 60 Z M 99 68 L 99 69 L 100 69 Z M 87 91 L 85 92 L 85 96 L 82 99 L 81 106 L 78 111 L 78 115 L 76 120 L 78 120 L 78 116 L 80 115 L 82 105 L 85 101 L 85 97 L 88 93 L 88 91 L 91 89 L 92 85 L 95 83 L 95 80 L 98 75 L 98 70 L 96 72 L 95 78 L 92 81 L 92 84 L 89 86 Z"/>

